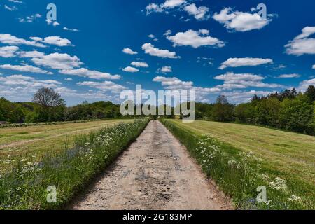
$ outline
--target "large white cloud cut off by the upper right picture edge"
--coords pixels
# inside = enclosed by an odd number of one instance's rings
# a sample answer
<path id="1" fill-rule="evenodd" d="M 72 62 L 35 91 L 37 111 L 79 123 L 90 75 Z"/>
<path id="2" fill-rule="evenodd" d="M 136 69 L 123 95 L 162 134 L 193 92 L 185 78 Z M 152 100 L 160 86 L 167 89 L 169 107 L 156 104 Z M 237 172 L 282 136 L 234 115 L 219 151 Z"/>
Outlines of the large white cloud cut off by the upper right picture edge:
<path id="1" fill-rule="evenodd" d="M 285 45 L 288 55 L 314 55 L 315 54 L 315 38 L 309 38 L 315 34 L 315 27 L 304 27 L 302 34 L 296 36 L 293 41 Z"/>

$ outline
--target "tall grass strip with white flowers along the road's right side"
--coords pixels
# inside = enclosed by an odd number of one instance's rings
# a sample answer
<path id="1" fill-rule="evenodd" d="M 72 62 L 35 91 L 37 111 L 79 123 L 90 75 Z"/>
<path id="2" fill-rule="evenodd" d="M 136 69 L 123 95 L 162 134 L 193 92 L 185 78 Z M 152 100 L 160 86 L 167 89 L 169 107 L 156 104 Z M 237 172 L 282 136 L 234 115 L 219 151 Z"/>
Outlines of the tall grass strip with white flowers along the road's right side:
<path id="1" fill-rule="evenodd" d="M 263 161 L 253 153 L 241 152 L 209 135 L 189 132 L 168 120 L 161 121 L 188 148 L 203 171 L 232 197 L 238 209 L 315 209 L 314 199 L 303 197 L 283 177 L 263 169 Z M 259 186 L 267 190 L 263 202 L 257 200 Z"/>

